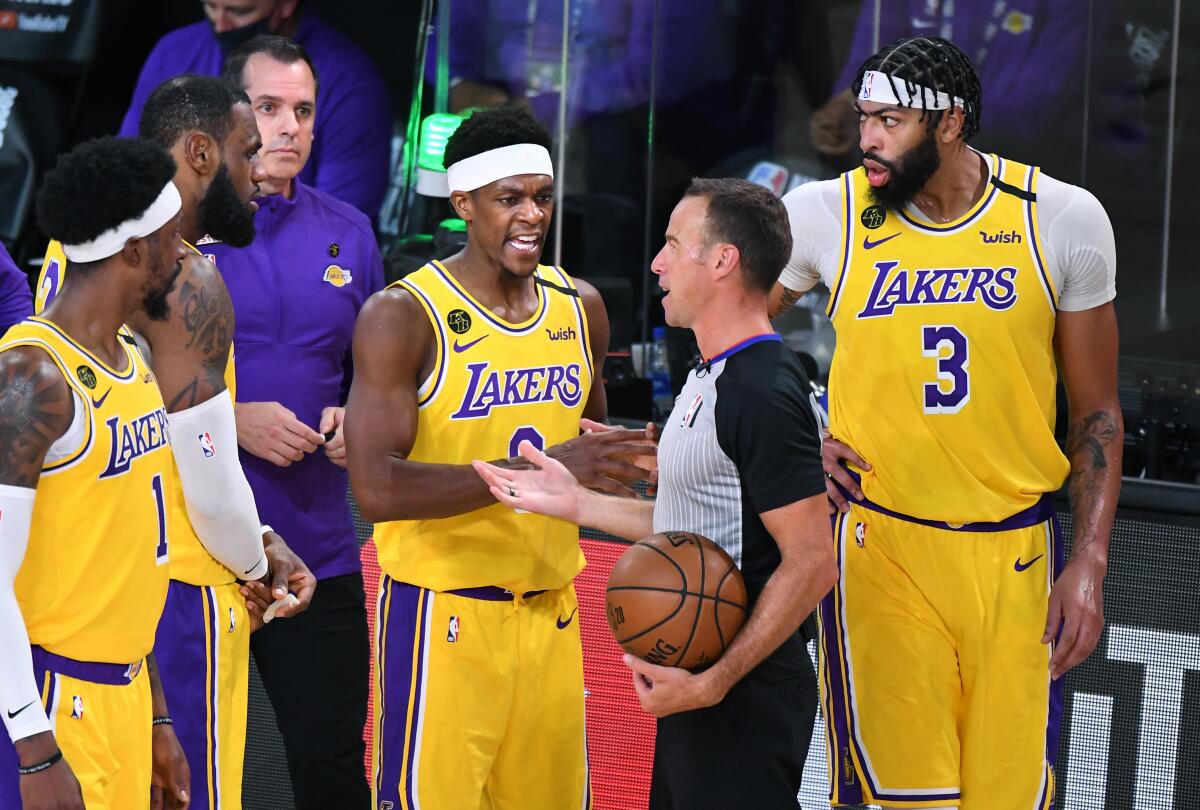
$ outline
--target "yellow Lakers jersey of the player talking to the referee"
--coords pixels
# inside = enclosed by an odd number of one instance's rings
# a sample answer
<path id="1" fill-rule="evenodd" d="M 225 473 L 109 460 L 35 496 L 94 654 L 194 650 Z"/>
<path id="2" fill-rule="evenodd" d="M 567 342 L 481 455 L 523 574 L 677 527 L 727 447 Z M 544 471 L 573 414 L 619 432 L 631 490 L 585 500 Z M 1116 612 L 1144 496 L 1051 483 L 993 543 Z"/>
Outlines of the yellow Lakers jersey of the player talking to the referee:
<path id="1" fill-rule="evenodd" d="M 539 266 L 535 278 L 538 310 L 520 324 L 492 314 L 437 262 L 394 284 L 420 301 L 436 343 L 410 461 L 469 464 L 515 456 L 522 439 L 548 448 L 578 436 L 594 373 L 583 302 L 560 269 Z M 432 590 L 562 588 L 583 568 L 574 524 L 500 504 L 380 523 L 374 540 L 389 576 Z"/>

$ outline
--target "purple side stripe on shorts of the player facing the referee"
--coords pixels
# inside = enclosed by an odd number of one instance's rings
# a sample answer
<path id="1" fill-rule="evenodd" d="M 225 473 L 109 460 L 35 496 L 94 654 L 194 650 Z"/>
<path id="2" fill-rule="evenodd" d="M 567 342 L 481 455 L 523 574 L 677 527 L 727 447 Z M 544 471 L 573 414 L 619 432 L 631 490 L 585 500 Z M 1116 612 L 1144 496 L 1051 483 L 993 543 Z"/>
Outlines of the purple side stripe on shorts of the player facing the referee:
<path id="1" fill-rule="evenodd" d="M 384 802 L 391 802 L 395 808 L 412 806 L 410 798 L 401 804 L 400 778 L 404 766 L 404 744 L 416 743 L 409 736 L 407 719 L 413 696 L 413 672 L 420 665 L 420 649 L 414 659 L 413 646 L 424 629 L 425 592 L 386 576 L 383 577 L 379 590 L 383 611 L 378 617 L 379 772 L 376 775 L 376 803 L 380 806 Z M 420 680 L 416 682 L 416 689 L 419 694 Z"/>

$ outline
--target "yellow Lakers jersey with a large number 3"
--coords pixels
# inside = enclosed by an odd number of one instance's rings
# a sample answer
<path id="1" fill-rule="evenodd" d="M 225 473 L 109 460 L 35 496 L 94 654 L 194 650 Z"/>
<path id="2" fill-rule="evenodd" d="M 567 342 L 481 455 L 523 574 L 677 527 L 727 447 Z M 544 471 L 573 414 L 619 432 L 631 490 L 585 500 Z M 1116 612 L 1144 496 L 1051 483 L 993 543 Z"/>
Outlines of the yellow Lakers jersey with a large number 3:
<path id="1" fill-rule="evenodd" d="M 1038 169 L 992 167 L 982 199 L 946 224 L 874 205 L 864 172 L 842 175 L 830 430 L 872 464 L 866 498 L 924 520 L 1002 520 L 1069 469 L 1054 438 Z"/>

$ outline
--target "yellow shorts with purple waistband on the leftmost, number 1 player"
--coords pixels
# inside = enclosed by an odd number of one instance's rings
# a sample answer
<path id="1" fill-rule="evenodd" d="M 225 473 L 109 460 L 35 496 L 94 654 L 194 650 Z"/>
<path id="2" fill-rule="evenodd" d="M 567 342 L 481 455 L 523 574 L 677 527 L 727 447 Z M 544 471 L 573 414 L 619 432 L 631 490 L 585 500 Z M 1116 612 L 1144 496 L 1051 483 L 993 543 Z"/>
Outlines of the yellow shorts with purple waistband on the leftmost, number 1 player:
<path id="1" fill-rule="evenodd" d="M 34 676 L 88 810 L 149 806 L 154 706 L 145 667 L 74 661 L 35 648 Z M 7 734 L 0 737 L 0 808 L 17 809 L 17 752 Z"/>

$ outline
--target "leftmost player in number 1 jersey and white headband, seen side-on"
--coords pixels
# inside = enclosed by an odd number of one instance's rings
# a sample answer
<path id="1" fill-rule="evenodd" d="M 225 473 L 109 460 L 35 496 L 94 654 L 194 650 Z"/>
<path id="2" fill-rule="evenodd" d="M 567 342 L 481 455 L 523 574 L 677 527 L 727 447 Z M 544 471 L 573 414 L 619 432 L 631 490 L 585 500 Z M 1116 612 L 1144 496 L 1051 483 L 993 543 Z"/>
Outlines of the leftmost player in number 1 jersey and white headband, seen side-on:
<path id="1" fill-rule="evenodd" d="M 6 810 L 144 808 L 151 749 L 178 752 L 143 666 L 167 595 L 174 468 L 162 396 L 121 329 L 137 310 L 168 314 L 184 257 L 174 173 L 157 145 L 107 138 L 61 157 L 38 193 L 76 277 L 0 342 Z M 167 806 L 187 806 L 181 776 Z"/>

